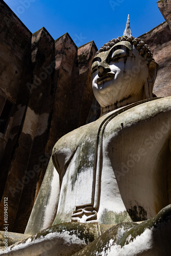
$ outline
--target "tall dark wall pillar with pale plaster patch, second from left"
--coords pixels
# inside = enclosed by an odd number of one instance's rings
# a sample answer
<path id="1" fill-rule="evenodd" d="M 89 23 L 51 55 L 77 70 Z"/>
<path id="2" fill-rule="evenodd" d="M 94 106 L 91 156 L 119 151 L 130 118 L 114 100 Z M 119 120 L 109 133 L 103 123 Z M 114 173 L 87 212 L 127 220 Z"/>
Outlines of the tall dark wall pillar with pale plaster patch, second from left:
<path id="1" fill-rule="evenodd" d="M 15 223 L 13 224 L 14 229 L 20 228 L 21 223 L 25 225 L 27 222 L 27 216 L 30 214 L 30 205 L 32 206 L 35 199 L 37 181 L 46 170 L 40 156 L 45 154 L 50 127 L 49 117 L 53 108 L 53 68 L 51 67 L 53 60 L 54 39 L 46 29 L 42 28 L 34 33 L 32 37 L 32 84 L 30 84 L 30 96 L 26 117 L 20 135 L 22 140 L 20 140 L 17 152 L 18 155 L 22 154 L 22 147 L 25 147 L 28 141 L 27 151 L 29 157 L 22 164 L 20 161 L 18 166 L 19 168 L 23 165 L 19 170 L 18 179 L 21 182 L 24 181 L 24 186 L 23 190 L 16 192 L 16 194 L 20 194 L 20 200 L 17 201 L 19 212 L 16 209 L 16 218 L 14 218 Z M 15 163 L 18 165 L 18 159 L 15 160 Z M 16 166 L 13 163 L 13 172 L 15 168 Z M 10 178 L 8 177 L 9 180 Z M 25 207 L 25 202 L 27 202 L 27 207 Z"/>

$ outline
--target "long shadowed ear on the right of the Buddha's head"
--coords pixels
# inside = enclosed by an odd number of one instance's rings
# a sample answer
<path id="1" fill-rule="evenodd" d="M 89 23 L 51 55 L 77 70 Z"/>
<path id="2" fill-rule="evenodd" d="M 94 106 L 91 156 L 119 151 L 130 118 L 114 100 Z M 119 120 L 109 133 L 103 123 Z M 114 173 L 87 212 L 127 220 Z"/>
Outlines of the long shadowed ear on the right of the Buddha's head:
<path id="1" fill-rule="evenodd" d="M 152 60 L 148 66 L 148 78 L 145 84 L 145 95 L 147 98 L 153 98 L 153 86 L 157 76 L 159 65 Z"/>

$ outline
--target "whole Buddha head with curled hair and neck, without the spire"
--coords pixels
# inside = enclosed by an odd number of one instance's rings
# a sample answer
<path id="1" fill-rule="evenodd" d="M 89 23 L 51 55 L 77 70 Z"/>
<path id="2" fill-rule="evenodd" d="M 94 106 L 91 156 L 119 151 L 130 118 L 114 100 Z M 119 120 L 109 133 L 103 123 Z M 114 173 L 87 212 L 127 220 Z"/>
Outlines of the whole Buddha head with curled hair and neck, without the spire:
<path id="1" fill-rule="evenodd" d="M 102 112 L 152 98 L 157 68 L 139 38 L 123 36 L 104 44 L 91 66 L 93 92 Z"/>

